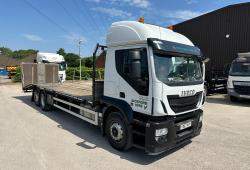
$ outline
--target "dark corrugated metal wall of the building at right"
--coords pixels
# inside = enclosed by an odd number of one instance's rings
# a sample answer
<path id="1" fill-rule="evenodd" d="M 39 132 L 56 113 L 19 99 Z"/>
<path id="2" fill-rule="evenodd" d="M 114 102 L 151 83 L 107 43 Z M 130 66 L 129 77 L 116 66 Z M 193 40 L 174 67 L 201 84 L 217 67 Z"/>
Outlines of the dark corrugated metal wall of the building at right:
<path id="1" fill-rule="evenodd" d="M 174 25 L 173 29 L 187 36 L 211 59 L 207 71 L 223 70 L 238 52 L 250 52 L 250 3 L 213 11 Z"/>

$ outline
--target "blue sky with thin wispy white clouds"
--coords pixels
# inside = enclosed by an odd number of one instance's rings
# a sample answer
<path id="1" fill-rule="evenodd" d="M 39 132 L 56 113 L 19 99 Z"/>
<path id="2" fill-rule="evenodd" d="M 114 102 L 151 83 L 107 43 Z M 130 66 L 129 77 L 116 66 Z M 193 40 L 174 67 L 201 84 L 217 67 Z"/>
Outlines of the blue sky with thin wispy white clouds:
<path id="1" fill-rule="evenodd" d="M 243 0 L 0 0 L 0 46 L 91 56 L 112 22 L 167 27 Z"/>

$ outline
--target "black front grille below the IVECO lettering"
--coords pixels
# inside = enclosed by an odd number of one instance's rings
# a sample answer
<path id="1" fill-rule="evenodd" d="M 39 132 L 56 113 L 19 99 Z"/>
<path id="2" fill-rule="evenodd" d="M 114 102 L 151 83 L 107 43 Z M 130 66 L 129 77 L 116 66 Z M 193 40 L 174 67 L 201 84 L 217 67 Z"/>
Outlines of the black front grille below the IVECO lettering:
<path id="1" fill-rule="evenodd" d="M 202 92 L 196 93 L 194 96 L 179 97 L 178 95 L 167 96 L 170 108 L 175 113 L 185 112 L 195 109 L 201 98 Z"/>

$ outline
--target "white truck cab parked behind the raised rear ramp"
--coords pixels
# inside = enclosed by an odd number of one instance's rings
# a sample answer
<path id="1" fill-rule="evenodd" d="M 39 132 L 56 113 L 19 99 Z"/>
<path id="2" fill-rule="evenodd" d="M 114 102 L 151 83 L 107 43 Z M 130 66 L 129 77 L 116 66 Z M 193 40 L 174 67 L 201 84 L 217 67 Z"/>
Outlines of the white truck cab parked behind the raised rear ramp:
<path id="1" fill-rule="evenodd" d="M 66 67 L 64 57 L 55 53 L 37 53 L 37 63 L 53 63 L 59 65 L 58 77 L 61 82 L 66 80 Z"/>

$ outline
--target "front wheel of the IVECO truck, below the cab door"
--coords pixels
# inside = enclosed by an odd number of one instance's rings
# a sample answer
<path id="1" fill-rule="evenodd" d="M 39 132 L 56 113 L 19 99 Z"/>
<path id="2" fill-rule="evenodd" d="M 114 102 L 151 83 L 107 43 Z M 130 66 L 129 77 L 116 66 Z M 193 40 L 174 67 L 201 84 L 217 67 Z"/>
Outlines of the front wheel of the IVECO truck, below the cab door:
<path id="1" fill-rule="evenodd" d="M 110 145 L 121 151 L 125 151 L 132 146 L 131 126 L 125 121 L 121 113 L 113 112 L 107 117 L 105 133 Z"/>

